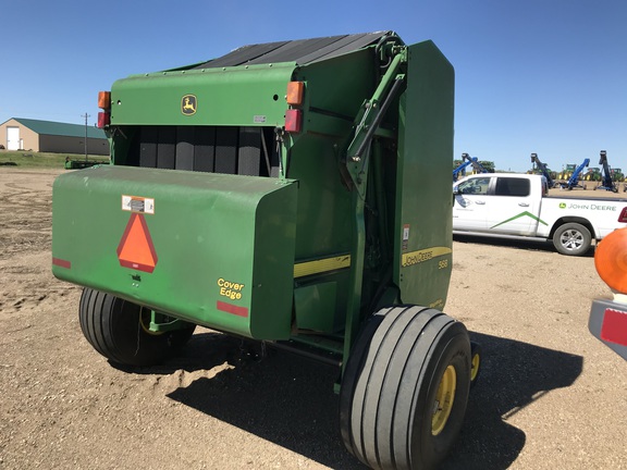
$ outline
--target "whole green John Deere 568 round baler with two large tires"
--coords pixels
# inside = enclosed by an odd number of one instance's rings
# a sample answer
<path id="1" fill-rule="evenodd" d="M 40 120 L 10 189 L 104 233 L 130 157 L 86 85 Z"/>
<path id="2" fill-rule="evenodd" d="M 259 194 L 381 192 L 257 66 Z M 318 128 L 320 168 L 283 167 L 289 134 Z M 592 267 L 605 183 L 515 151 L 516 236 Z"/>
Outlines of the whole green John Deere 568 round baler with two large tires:
<path id="1" fill-rule="evenodd" d="M 347 449 L 435 467 L 480 364 L 442 312 L 453 104 L 440 50 L 393 32 L 115 82 L 98 116 L 112 164 L 53 185 L 52 272 L 85 287 L 85 337 L 126 367 L 196 325 L 331 362 Z"/>

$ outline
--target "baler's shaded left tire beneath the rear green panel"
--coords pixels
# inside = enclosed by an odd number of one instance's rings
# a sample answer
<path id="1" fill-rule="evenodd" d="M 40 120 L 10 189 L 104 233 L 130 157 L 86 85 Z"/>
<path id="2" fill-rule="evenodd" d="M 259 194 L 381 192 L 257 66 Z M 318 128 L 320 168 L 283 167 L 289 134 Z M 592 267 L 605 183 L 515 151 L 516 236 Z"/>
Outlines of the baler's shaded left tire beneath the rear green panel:
<path id="1" fill-rule="evenodd" d="M 85 338 L 94 349 L 122 366 L 155 366 L 183 347 L 195 324 L 182 330 L 150 332 L 151 311 L 111 294 L 83 289 L 78 319 Z"/>

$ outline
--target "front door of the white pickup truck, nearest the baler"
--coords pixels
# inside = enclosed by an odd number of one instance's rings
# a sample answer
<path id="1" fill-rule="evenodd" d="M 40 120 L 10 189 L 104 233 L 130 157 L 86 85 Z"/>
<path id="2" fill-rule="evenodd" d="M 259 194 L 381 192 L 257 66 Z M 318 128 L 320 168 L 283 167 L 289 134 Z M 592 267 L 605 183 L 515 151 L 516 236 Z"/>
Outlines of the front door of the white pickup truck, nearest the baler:
<path id="1" fill-rule="evenodd" d="M 477 175 L 454 188 L 453 230 L 485 231 L 490 176 Z"/>

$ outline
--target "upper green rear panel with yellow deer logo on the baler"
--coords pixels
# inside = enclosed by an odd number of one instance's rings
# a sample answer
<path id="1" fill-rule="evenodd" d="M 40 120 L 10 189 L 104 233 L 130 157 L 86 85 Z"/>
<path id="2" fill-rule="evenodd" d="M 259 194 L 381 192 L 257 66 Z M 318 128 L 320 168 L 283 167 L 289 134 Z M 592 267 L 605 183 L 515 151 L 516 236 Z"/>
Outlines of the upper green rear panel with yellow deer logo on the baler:
<path id="1" fill-rule="evenodd" d="M 285 123 L 294 63 L 133 75 L 111 88 L 111 125 Z"/>

